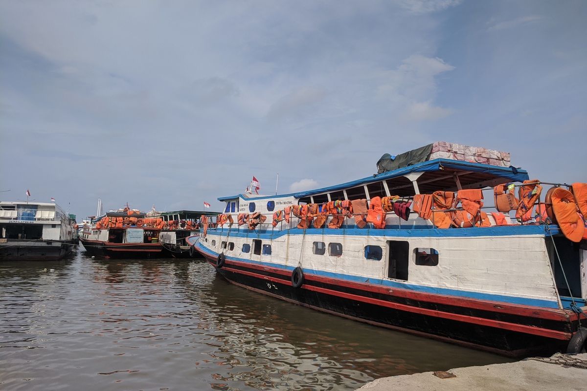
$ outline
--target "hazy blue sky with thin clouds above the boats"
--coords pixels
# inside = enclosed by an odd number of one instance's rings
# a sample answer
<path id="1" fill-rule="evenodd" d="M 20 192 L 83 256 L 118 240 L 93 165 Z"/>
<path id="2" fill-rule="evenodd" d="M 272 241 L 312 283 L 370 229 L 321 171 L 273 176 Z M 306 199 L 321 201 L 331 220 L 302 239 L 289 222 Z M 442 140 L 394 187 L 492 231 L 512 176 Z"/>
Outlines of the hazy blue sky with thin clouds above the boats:
<path id="1" fill-rule="evenodd" d="M 0 200 L 222 210 L 434 141 L 587 182 L 585 1 L 0 0 Z"/>

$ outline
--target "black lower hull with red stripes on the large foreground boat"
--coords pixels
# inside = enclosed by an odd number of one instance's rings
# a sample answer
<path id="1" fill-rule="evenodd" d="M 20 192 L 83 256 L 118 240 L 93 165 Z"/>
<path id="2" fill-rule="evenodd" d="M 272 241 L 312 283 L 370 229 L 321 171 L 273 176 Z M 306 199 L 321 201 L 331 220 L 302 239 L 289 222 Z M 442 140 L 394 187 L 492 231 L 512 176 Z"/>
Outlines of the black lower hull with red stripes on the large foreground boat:
<path id="1" fill-rule="evenodd" d="M 318 276 L 304 270 L 294 288 L 292 270 L 225 257 L 201 245 L 195 249 L 231 283 L 285 301 L 444 342 L 507 356 L 563 350 L 576 315 L 548 308 L 390 289 Z"/>

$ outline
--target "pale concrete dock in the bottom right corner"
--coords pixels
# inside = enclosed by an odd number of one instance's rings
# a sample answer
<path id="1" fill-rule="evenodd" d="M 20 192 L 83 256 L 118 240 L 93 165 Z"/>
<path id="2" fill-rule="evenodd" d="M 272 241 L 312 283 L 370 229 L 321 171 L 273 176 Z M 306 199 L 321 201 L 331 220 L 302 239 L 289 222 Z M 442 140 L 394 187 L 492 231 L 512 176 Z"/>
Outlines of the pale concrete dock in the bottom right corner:
<path id="1" fill-rule="evenodd" d="M 587 390 L 587 353 L 392 376 L 361 391 L 566 391 Z"/>

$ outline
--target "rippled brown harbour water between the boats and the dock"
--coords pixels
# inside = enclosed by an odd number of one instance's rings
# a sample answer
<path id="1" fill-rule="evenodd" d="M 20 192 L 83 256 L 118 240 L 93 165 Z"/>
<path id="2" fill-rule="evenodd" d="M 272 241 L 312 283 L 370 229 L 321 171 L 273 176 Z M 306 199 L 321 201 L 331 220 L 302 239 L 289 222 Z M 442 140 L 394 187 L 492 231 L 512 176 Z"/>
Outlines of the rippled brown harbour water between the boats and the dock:
<path id="1" fill-rule="evenodd" d="M 0 263 L 2 390 L 353 390 L 505 361 L 252 293 L 204 261 Z"/>

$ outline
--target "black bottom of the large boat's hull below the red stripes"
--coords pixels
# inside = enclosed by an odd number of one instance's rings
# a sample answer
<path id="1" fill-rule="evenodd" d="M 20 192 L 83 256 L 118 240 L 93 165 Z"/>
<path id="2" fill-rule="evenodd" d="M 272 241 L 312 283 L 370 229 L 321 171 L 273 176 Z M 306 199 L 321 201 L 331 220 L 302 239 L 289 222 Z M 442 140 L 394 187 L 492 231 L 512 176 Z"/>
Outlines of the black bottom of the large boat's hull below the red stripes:
<path id="1" fill-rule="evenodd" d="M 215 265 L 215 259 L 209 259 Z M 258 293 L 271 295 L 295 304 L 328 312 L 342 317 L 355 319 L 379 327 L 396 329 L 410 334 L 426 336 L 444 342 L 464 345 L 470 348 L 483 349 L 507 356 L 551 355 L 556 351 L 565 351 L 568 341 L 564 339 L 548 338 L 541 335 L 527 334 L 503 328 L 490 327 L 480 324 L 471 324 L 456 319 L 439 318 L 416 312 L 402 311 L 397 308 L 370 304 L 362 300 L 340 297 L 335 294 L 325 294 L 305 288 L 292 287 L 289 281 L 275 281 L 259 278 L 238 272 L 225 265 L 217 268 L 217 272 L 231 283 L 248 288 Z M 420 308 L 418 303 L 414 306 Z M 475 310 L 471 310 L 474 312 Z M 476 314 L 480 315 L 480 314 Z M 487 315 L 487 314 L 485 314 Z M 491 314 L 494 319 L 500 319 L 503 314 Z M 506 315 L 507 316 L 507 315 Z M 458 317 L 455 314 L 455 317 Z M 492 319 L 490 319 L 492 320 Z M 554 328 L 568 329 L 569 323 L 564 321 L 550 321 Z"/>

